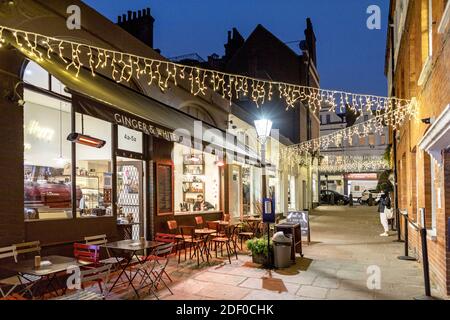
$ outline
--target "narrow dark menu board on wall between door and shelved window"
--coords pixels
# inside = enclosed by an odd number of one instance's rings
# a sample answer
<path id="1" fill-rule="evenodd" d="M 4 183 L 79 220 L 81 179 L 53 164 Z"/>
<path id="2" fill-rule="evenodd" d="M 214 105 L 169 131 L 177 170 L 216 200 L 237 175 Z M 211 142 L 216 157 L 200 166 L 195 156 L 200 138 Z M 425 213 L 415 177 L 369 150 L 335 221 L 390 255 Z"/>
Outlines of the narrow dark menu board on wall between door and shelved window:
<path id="1" fill-rule="evenodd" d="M 171 164 L 156 165 L 156 210 L 158 215 L 173 213 L 173 167 Z"/>

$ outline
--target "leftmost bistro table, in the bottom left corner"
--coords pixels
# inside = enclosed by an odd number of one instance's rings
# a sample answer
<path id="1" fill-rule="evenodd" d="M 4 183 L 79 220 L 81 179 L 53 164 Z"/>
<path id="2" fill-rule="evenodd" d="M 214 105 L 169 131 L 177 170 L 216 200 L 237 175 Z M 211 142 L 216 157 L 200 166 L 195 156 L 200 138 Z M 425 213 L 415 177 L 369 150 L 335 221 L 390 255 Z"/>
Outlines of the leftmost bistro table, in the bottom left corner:
<path id="1" fill-rule="evenodd" d="M 63 288 L 63 294 L 66 291 L 66 286 L 62 285 L 58 280 L 58 273 L 66 272 L 73 267 L 81 267 L 82 264 L 77 262 L 75 258 L 63 257 L 63 256 L 47 256 L 41 258 L 41 266 L 35 268 L 34 258 L 28 260 L 19 260 L 17 263 L 8 263 L 1 266 L 2 269 L 14 271 L 19 279 L 22 277 L 27 281 L 30 281 L 28 290 L 30 291 L 32 298 L 43 297 L 45 291 L 39 295 L 39 288 L 47 281 L 45 290 L 52 288 L 52 292 L 58 296 L 58 287 Z M 34 278 L 36 279 L 35 281 Z M 57 287 L 55 287 L 54 282 Z"/>

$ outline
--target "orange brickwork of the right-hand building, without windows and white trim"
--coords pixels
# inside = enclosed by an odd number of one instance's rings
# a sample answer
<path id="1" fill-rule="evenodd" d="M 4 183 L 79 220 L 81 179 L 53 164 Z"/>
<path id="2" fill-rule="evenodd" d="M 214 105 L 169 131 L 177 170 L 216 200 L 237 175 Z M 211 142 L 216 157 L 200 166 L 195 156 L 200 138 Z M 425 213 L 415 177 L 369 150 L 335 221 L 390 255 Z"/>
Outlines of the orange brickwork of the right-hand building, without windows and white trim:
<path id="1" fill-rule="evenodd" d="M 446 153 L 443 165 L 436 166 L 435 179 L 432 181 L 430 157 L 418 149 L 420 140 L 429 128 L 429 125 L 423 124 L 420 119 L 438 117 L 450 103 L 450 31 L 444 35 L 436 32 L 444 7 L 443 1 L 434 0 L 432 71 L 428 80 L 418 86 L 424 50 L 420 36 L 420 3 L 421 1 L 410 1 L 406 20 L 407 32 L 400 45 L 393 81 L 398 96 L 416 97 L 419 103 L 418 120 L 411 120 L 400 131 L 397 159 L 403 162 L 402 156 L 405 155 L 406 166 L 402 163 L 401 170 L 404 172 L 399 172 L 399 200 L 400 208 L 407 208 L 412 218 L 419 208 L 426 208 L 426 225 L 430 228 L 431 186 L 441 188 L 442 207 L 436 208 L 436 237 L 429 237 L 427 244 L 432 285 L 441 295 L 450 295 L 450 260 L 446 244 L 447 220 L 450 216 L 450 156 Z M 414 178 L 415 175 L 417 179 Z M 435 201 L 437 202 L 437 199 Z M 409 231 L 410 249 L 421 258 L 419 233 L 411 227 Z"/>

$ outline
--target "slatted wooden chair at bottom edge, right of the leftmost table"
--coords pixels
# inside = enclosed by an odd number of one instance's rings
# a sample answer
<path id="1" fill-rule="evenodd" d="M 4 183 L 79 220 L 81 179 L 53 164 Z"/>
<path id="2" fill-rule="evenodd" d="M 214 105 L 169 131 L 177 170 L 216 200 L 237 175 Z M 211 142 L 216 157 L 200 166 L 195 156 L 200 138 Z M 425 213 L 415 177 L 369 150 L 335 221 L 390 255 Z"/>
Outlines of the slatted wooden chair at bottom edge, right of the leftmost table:
<path id="1" fill-rule="evenodd" d="M 108 290 L 106 283 L 109 281 L 109 274 L 111 271 L 111 264 L 106 264 L 98 268 L 86 269 L 80 272 L 80 285 L 81 288 L 74 293 L 66 294 L 62 297 L 58 297 L 55 300 L 105 300 Z M 86 284 L 89 282 L 96 282 L 100 287 L 100 293 L 86 289 Z M 103 289 L 101 284 L 105 284 Z"/>

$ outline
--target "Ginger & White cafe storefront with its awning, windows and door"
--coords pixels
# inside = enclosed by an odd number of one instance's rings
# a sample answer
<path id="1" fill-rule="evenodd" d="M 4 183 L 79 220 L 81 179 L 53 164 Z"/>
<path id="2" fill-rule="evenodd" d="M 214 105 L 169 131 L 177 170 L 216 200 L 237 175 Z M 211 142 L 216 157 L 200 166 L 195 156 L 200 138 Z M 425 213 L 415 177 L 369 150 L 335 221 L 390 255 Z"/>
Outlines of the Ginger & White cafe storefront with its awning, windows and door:
<path id="1" fill-rule="evenodd" d="M 167 232 L 168 220 L 217 220 L 243 203 L 233 162 L 258 164 L 249 148 L 107 78 L 81 70 L 75 79 L 46 64 L 30 61 L 23 74 L 25 240 L 150 238 Z M 103 145 L 68 141 L 74 132 Z M 257 165 L 246 168 L 240 179 L 260 179 Z"/>

